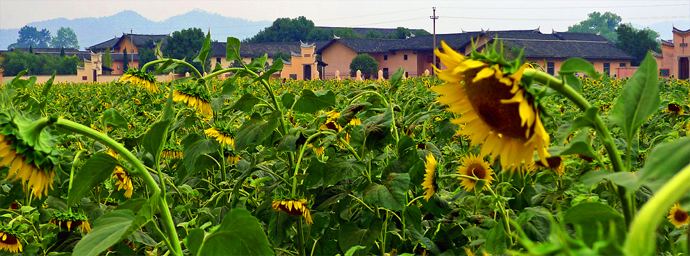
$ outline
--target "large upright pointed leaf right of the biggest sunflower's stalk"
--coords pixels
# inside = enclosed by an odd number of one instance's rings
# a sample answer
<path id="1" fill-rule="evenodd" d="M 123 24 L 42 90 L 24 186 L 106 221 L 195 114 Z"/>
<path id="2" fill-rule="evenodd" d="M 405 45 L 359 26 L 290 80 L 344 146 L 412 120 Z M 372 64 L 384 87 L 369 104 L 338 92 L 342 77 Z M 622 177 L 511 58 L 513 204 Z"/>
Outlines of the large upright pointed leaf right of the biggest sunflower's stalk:
<path id="1" fill-rule="evenodd" d="M 611 110 L 611 121 L 623 130 L 628 143 L 647 118 L 659 107 L 659 69 L 651 52 L 623 87 Z"/>

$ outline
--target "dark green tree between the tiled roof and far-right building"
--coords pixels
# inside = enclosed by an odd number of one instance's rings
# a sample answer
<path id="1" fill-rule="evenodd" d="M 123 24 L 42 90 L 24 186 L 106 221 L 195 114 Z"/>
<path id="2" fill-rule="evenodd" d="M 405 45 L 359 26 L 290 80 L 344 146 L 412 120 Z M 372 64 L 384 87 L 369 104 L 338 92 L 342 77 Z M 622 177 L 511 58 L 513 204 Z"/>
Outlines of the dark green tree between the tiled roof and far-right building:
<path id="1" fill-rule="evenodd" d="M 616 47 L 637 58 L 630 62 L 632 66 L 639 66 L 648 51 L 662 51 L 657 42 L 659 33 L 650 28 L 637 29 L 632 24 L 621 24 L 616 28 L 616 33 L 618 33 Z"/>

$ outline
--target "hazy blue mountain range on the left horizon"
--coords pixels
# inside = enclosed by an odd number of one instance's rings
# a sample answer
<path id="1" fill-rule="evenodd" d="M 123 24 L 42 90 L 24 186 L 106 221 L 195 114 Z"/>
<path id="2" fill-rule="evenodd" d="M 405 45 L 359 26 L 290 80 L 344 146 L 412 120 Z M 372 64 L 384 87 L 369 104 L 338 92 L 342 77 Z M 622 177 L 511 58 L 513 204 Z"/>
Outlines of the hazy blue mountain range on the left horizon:
<path id="1" fill-rule="evenodd" d="M 31 22 L 28 26 L 35 26 L 40 31 L 47 28 L 55 36 L 60 26 L 74 29 L 79 37 L 79 48 L 99 44 L 113 37 L 120 37 L 122 33 L 135 34 L 168 34 L 185 28 L 202 28 L 204 33 L 211 30 L 211 38 L 225 42 L 227 37 L 237 37 L 243 40 L 252 37 L 261 29 L 271 26 L 272 21 L 252 22 L 247 19 L 225 17 L 217 13 L 204 10 L 192 10 L 183 15 L 165 19 L 163 22 L 153 22 L 132 10 L 124 10 L 113 16 L 79 19 L 50 19 L 42 22 Z M 17 42 L 19 28 L 0 29 L 0 49 Z"/>

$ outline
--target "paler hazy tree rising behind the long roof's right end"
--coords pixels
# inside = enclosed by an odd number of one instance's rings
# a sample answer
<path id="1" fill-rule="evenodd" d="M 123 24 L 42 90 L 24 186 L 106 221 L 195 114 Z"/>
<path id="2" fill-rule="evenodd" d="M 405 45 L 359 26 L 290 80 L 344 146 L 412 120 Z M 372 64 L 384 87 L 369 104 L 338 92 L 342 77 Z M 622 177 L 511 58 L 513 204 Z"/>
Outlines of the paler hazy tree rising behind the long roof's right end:
<path id="1" fill-rule="evenodd" d="M 621 23 L 621 16 L 613 12 L 606 12 L 603 15 L 601 12 L 592 12 L 587 16 L 589 16 L 588 19 L 573 26 L 568 26 L 568 32 L 600 33 L 608 40 L 617 41 L 616 27 Z"/>

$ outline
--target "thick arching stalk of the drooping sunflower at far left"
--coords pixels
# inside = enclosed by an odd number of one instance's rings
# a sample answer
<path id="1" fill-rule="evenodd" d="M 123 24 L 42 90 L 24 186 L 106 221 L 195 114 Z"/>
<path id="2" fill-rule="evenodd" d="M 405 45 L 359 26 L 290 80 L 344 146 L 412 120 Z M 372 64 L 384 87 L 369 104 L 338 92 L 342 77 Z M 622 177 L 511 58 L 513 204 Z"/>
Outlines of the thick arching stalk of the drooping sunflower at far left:
<path id="1" fill-rule="evenodd" d="M 134 174 L 137 174 L 140 178 L 142 178 L 142 181 L 147 185 L 148 189 L 151 189 L 154 195 L 161 196 L 161 198 L 165 196 L 161 194 L 161 188 L 158 187 L 158 184 L 156 184 L 156 180 L 154 180 L 154 178 L 151 177 L 151 173 L 149 173 L 149 171 L 146 170 L 144 164 L 142 164 L 137 159 L 137 157 L 135 157 L 131 152 L 124 148 L 124 146 L 122 146 L 120 143 L 115 142 L 115 140 L 111 139 L 110 137 L 102 133 L 97 132 L 96 130 L 93 130 L 92 128 L 88 128 L 86 126 L 83 126 L 79 123 L 75 123 L 73 121 L 69 121 L 67 119 L 60 118 L 54 123 L 54 125 L 58 128 L 62 128 L 69 132 L 78 133 L 86 137 L 90 137 L 108 146 L 109 148 L 113 148 L 113 150 L 117 152 L 120 156 L 122 156 L 122 158 L 124 158 L 132 164 L 134 170 L 136 171 Z M 161 185 L 165 185 L 163 184 L 163 180 L 161 180 Z M 160 200 L 161 198 L 158 198 L 158 200 Z M 161 211 L 161 219 L 163 219 L 163 223 L 165 225 L 165 232 L 167 232 L 167 237 L 171 241 L 170 244 L 172 247 L 170 248 L 170 251 L 172 255 L 182 255 L 182 248 L 179 244 L 180 239 L 177 236 L 175 224 L 172 221 L 172 215 L 170 214 L 170 210 L 168 209 L 167 204 L 159 202 L 158 208 L 158 210 Z"/>

